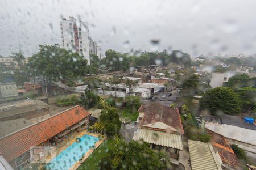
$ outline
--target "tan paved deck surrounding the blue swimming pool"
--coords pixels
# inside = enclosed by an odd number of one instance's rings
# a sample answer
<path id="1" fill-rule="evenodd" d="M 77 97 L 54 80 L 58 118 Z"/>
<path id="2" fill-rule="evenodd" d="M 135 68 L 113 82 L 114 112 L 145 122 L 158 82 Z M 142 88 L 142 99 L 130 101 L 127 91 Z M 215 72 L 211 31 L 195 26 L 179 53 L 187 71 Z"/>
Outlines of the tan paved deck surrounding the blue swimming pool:
<path id="1" fill-rule="evenodd" d="M 58 147 L 57 147 L 57 149 L 56 149 L 56 156 L 59 155 L 59 154 L 60 154 L 62 151 L 64 151 L 65 149 L 67 149 L 69 146 L 71 146 L 74 142 L 76 142 L 76 138 L 81 138 L 83 135 L 91 135 L 91 136 L 97 137 L 97 138 L 98 138 L 99 136 L 101 136 L 101 134 L 98 134 L 98 133 L 90 133 L 88 130 L 81 130 L 81 131 L 79 131 L 79 132 L 76 132 L 76 133 L 72 134 L 72 137 L 68 137 L 67 139 L 65 139 L 65 141 L 63 142 L 64 144 L 61 143 L 61 146 L 58 146 Z M 105 139 L 106 139 L 106 137 L 103 138 L 103 139 L 99 139 L 99 141 L 97 141 L 97 142 L 95 143 L 94 149 L 90 148 L 89 151 L 87 151 L 87 152 L 85 153 L 84 158 L 82 158 L 82 162 L 84 162 L 84 161 L 90 156 L 90 154 L 92 154 L 92 152 L 93 152 L 98 146 L 100 146 L 102 142 L 105 141 Z M 49 160 L 49 161 L 51 161 L 51 160 Z M 48 161 L 48 162 L 49 162 L 49 161 Z M 48 162 L 47 162 L 47 163 L 48 163 Z M 81 164 L 80 161 L 77 161 L 69 170 L 75 170 L 75 169 L 77 169 L 77 168 L 80 166 L 80 164 Z"/>

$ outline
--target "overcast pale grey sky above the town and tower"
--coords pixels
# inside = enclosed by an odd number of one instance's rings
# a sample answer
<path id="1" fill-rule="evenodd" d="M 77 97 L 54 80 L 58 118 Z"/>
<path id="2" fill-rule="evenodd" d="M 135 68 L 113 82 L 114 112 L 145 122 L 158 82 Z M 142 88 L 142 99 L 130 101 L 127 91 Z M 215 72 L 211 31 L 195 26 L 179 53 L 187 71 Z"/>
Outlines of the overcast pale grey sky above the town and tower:
<path id="1" fill-rule="evenodd" d="M 0 55 L 38 44 L 61 44 L 60 20 L 73 16 L 89 23 L 103 50 L 121 52 L 179 49 L 200 54 L 256 54 L 256 1 L 32 1 L 0 0 Z M 124 43 L 129 42 L 129 43 Z"/>

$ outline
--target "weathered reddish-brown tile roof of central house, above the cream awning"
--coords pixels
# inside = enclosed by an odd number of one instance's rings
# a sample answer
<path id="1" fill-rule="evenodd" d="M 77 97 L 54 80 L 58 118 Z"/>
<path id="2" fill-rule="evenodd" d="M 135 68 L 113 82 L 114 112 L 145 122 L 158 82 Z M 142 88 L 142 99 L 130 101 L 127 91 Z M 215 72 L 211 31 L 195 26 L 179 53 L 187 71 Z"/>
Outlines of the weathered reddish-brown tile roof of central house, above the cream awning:
<path id="1" fill-rule="evenodd" d="M 163 122 L 164 124 L 171 126 L 177 131 L 171 131 L 171 133 L 184 134 L 183 125 L 181 124 L 181 118 L 178 109 L 166 107 L 158 102 L 142 104 L 138 109 L 138 112 L 144 112 L 144 117 L 141 120 L 140 126 L 148 125 L 156 122 Z M 144 127 L 146 128 L 146 127 Z M 158 131 L 166 131 L 159 128 L 148 128 Z"/>

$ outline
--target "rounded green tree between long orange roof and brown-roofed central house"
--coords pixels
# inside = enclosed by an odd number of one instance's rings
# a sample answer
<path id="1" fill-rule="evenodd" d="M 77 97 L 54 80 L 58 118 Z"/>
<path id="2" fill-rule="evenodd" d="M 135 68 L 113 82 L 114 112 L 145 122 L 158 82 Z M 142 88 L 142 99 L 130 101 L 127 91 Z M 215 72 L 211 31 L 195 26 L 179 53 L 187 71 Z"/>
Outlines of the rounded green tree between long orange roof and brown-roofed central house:
<path id="1" fill-rule="evenodd" d="M 104 125 L 105 132 L 108 136 L 118 134 L 121 128 L 121 121 L 117 108 L 107 107 L 101 111 L 100 122 Z"/>

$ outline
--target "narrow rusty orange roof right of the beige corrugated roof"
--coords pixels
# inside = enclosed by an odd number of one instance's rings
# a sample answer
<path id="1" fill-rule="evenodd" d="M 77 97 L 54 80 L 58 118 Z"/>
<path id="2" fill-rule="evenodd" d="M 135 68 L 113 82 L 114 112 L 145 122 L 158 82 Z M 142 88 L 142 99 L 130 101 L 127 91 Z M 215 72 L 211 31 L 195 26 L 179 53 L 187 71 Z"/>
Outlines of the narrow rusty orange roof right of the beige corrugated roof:
<path id="1" fill-rule="evenodd" d="M 238 162 L 236 154 L 234 154 L 234 151 L 229 146 L 229 143 L 226 141 L 225 137 L 208 129 L 207 133 L 212 137 L 211 143 L 214 149 L 218 151 L 222 162 L 231 168 L 238 169 L 240 163 Z"/>

